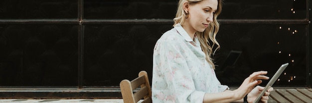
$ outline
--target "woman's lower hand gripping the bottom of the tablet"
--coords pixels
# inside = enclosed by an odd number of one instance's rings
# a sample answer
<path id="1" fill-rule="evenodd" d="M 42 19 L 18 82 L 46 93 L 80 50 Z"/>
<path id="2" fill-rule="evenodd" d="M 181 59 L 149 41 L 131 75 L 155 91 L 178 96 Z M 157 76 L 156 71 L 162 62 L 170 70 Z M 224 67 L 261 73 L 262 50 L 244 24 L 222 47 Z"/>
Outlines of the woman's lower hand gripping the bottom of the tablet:
<path id="1" fill-rule="evenodd" d="M 257 86 L 255 87 L 248 95 L 247 95 L 247 102 L 248 103 L 253 103 L 256 98 L 258 97 L 258 95 L 262 92 L 262 90 L 264 89 L 264 87 L 261 86 Z M 269 100 L 269 95 L 270 92 L 273 91 L 273 88 L 269 88 L 267 92 L 264 93 L 264 95 L 262 96 L 260 102 L 261 103 L 268 103 Z"/>

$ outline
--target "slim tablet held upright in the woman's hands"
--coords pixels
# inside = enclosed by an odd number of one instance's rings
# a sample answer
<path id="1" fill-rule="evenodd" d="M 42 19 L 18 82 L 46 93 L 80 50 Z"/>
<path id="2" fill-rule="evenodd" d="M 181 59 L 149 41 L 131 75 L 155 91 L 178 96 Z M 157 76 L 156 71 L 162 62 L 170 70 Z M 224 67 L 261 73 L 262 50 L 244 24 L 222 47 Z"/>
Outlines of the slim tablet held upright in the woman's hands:
<path id="1" fill-rule="evenodd" d="M 271 78 L 271 80 L 269 81 L 269 83 L 266 85 L 266 87 L 263 89 L 263 91 L 259 94 L 259 96 L 256 98 L 256 100 L 254 101 L 254 103 L 259 103 L 261 97 L 264 95 L 264 93 L 266 91 L 268 91 L 268 89 L 270 87 L 272 87 L 272 85 L 274 84 L 274 82 L 280 77 L 280 75 L 283 73 L 283 71 L 285 70 L 285 68 L 288 66 L 288 63 L 283 64 L 279 70 L 277 70 L 277 72 L 274 74 L 274 76 Z"/>

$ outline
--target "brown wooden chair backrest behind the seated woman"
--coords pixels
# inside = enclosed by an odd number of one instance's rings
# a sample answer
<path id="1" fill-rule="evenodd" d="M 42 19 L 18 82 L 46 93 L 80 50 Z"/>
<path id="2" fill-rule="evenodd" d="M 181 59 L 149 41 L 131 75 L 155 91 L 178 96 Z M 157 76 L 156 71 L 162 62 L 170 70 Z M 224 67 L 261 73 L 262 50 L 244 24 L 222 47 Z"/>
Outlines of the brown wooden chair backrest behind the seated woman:
<path id="1" fill-rule="evenodd" d="M 133 90 L 137 88 L 139 90 L 134 93 Z M 124 103 L 138 103 L 141 99 L 144 99 L 141 103 L 152 103 L 152 91 L 146 71 L 141 71 L 139 77 L 132 81 L 127 79 L 121 81 L 120 89 Z"/>

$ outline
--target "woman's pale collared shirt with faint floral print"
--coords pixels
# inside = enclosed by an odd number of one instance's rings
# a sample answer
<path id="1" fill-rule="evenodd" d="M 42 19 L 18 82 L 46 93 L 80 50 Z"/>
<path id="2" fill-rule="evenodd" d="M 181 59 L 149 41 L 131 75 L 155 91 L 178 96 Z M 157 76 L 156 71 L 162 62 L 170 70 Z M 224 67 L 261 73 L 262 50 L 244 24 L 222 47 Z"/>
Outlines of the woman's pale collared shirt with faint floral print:
<path id="1" fill-rule="evenodd" d="M 197 37 L 180 24 L 165 32 L 154 49 L 153 103 L 202 103 L 205 93 L 228 89 L 216 78 Z"/>

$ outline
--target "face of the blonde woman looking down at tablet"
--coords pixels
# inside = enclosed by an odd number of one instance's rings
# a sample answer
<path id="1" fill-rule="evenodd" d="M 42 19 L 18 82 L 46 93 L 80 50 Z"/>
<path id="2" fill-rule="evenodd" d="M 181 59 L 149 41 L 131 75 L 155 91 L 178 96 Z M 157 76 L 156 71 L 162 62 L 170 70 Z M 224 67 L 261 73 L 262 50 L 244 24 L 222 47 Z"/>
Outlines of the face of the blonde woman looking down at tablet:
<path id="1" fill-rule="evenodd" d="M 213 21 L 213 14 L 217 10 L 218 0 L 202 0 L 189 5 L 187 18 L 192 31 L 203 32 Z"/>

